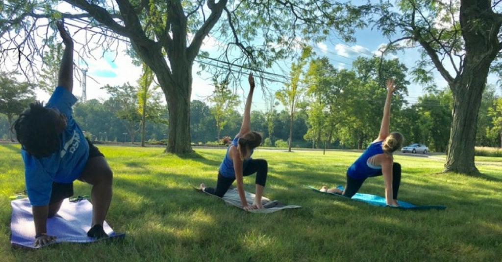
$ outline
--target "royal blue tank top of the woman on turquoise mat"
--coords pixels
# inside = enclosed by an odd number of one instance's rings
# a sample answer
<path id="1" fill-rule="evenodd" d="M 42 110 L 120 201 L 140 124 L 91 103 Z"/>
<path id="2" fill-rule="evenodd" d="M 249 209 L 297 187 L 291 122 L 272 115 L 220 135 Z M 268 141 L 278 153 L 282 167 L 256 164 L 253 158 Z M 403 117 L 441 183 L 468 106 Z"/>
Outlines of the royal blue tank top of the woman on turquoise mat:
<path id="1" fill-rule="evenodd" d="M 362 155 L 348 168 L 347 175 L 352 178 L 362 179 L 381 171 L 382 168 L 372 168 L 367 162 L 370 157 L 384 153 L 384 149 L 382 148 L 383 142 L 384 141 L 379 141 L 369 144 L 366 151 L 364 151 L 364 153 L 362 153 Z"/>

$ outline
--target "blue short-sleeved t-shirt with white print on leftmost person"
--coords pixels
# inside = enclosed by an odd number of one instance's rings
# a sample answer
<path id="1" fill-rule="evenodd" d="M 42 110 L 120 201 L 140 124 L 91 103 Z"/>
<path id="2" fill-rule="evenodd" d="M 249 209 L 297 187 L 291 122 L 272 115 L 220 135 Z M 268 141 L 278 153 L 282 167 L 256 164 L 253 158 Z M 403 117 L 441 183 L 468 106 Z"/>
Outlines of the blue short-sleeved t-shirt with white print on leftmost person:
<path id="1" fill-rule="evenodd" d="M 89 146 L 72 117 L 71 107 L 75 102 L 77 98 L 66 88 L 57 87 L 46 105 L 47 108 L 57 109 L 66 116 L 66 128 L 60 135 L 58 151 L 48 157 L 36 158 L 21 150 L 25 162 L 26 191 L 32 205 L 49 204 L 52 182 L 75 181 L 87 164 Z"/>

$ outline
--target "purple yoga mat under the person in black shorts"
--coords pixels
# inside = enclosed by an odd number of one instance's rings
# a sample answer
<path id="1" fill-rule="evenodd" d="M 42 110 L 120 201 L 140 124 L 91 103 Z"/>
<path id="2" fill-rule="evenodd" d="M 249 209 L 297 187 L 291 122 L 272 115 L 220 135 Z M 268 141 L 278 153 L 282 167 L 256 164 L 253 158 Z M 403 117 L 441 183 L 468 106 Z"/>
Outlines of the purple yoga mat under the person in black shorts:
<path id="1" fill-rule="evenodd" d="M 33 223 L 32 206 L 28 198 L 11 201 L 11 243 L 13 247 L 39 248 L 33 246 L 35 241 L 35 224 Z M 55 235 L 56 243 L 77 242 L 88 243 L 96 241 L 88 237 L 87 231 L 91 228 L 92 204 L 87 199 L 78 202 L 63 201 L 58 213 L 47 219 L 47 234 Z M 104 231 L 112 237 L 123 237 L 126 234 L 116 234 L 106 223 Z M 108 238 L 101 238 L 108 239 Z M 51 243 L 52 244 L 52 243 Z M 47 245 L 44 245 L 47 246 Z"/>

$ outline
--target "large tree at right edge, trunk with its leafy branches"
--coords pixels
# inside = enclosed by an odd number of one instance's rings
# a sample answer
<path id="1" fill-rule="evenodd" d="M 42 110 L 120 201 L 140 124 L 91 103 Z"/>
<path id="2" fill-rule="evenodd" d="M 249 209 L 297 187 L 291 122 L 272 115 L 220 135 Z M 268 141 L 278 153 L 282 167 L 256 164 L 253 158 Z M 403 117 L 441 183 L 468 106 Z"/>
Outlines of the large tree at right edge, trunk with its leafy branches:
<path id="1" fill-rule="evenodd" d="M 476 122 L 490 66 L 502 49 L 500 1 L 398 0 L 375 10 L 373 20 L 393 38 L 387 50 L 419 47 L 417 80 L 431 83 L 437 70 L 453 93 L 453 115 L 444 171 L 477 174 Z M 405 45 L 400 45 L 405 41 Z M 500 67 L 498 67 L 500 68 Z"/>

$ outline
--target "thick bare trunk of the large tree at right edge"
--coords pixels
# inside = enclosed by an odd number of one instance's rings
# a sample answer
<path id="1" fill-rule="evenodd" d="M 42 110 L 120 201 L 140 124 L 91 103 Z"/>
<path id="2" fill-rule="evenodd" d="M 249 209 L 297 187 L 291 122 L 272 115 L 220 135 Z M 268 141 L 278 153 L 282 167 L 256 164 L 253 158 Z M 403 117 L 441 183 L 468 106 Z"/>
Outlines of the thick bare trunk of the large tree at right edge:
<path id="1" fill-rule="evenodd" d="M 460 1 L 465 67 L 450 83 L 453 117 L 445 172 L 479 173 L 474 164 L 477 115 L 490 64 L 502 46 L 497 37 L 501 26 L 502 19 L 493 13 L 489 0 Z"/>

